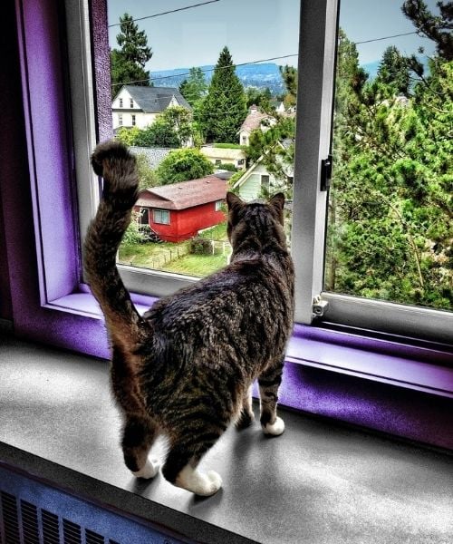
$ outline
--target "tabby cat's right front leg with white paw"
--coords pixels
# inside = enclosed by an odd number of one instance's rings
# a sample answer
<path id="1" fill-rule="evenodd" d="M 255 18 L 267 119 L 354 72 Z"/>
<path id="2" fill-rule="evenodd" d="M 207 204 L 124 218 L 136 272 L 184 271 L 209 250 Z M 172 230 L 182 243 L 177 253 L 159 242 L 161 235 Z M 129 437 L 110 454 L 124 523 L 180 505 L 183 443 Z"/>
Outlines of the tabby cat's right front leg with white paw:
<path id="1" fill-rule="evenodd" d="M 265 434 L 278 436 L 284 432 L 284 421 L 278 417 L 278 388 L 282 383 L 283 359 L 273 364 L 258 377 L 260 396 L 260 423 Z"/>

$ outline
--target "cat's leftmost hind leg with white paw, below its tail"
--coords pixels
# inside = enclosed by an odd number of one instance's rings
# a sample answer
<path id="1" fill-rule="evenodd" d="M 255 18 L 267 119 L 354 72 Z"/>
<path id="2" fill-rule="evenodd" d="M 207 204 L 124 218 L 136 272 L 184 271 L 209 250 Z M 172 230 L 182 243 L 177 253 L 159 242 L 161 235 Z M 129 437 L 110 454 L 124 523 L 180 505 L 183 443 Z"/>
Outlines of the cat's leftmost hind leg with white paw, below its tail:
<path id="1" fill-rule="evenodd" d="M 121 447 L 124 462 L 137 478 L 154 478 L 159 472 L 159 462 L 148 454 L 157 438 L 157 427 L 147 417 L 126 414 Z"/>

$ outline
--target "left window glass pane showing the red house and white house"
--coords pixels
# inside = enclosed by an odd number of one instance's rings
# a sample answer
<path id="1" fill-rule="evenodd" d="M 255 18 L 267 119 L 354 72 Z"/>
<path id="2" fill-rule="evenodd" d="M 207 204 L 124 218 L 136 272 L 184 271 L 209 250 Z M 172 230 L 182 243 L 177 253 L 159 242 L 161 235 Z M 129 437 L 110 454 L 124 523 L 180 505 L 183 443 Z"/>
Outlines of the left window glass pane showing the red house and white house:
<path id="1" fill-rule="evenodd" d="M 290 230 L 300 2 L 198 4 L 108 0 L 112 128 L 141 189 L 119 262 L 202 277 L 230 253 L 227 190 L 284 190 Z"/>

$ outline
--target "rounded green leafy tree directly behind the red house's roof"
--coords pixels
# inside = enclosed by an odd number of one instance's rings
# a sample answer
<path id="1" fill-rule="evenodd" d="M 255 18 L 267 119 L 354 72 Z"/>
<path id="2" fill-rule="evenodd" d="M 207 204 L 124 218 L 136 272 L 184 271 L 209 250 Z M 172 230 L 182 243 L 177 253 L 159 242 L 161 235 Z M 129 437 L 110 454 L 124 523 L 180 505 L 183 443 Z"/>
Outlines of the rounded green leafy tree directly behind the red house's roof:
<path id="1" fill-rule="evenodd" d="M 198 180 L 214 171 L 213 164 L 196 149 L 171 151 L 156 170 L 159 183 L 168 185 L 178 181 Z"/>

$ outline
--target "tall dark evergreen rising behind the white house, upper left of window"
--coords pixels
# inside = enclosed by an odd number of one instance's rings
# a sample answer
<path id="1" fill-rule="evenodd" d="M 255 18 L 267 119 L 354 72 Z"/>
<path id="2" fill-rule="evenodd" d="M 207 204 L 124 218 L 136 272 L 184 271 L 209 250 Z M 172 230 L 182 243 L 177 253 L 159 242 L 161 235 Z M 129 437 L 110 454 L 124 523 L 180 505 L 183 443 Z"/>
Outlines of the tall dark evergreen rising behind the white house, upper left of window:
<path id="1" fill-rule="evenodd" d="M 120 16 L 120 34 L 116 37 L 120 49 L 111 50 L 111 94 L 114 96 L 120 85 L 149 86 L 149 72 L 145 64 L 152 56 L 145 32 L 133 22 L 127 13 Z"/>

